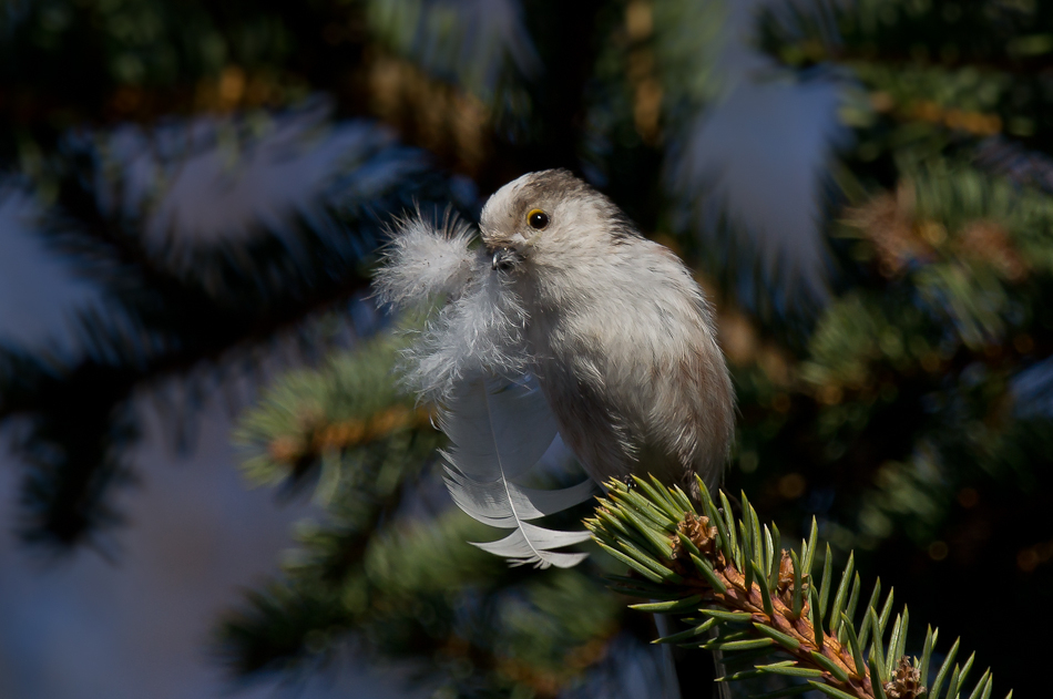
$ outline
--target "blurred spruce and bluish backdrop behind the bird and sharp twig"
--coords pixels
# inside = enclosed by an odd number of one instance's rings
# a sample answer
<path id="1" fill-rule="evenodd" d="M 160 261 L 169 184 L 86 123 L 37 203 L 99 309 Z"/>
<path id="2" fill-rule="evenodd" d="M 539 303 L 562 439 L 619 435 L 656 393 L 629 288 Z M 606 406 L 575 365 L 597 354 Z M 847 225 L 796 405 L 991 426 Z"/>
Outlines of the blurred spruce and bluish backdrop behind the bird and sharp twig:
<path id="1" fill-rule="evenodd" d="M 1049 3 L 8 0 L 0 75 L 0 696 L 669 696 L 615 562 L 464 543 L 369 299 L 546 167 L 709 290 L 727 490 L 1041 696 Z"/>

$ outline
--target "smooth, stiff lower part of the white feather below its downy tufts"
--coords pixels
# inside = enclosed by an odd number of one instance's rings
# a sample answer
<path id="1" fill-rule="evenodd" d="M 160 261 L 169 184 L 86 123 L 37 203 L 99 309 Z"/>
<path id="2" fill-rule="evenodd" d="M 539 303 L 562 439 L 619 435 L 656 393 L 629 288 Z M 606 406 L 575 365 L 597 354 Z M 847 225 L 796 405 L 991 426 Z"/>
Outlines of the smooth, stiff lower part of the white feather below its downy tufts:
<path id="1" fill-rule="evenodd" d="M 556 532 L 529 522 L 586 501 L 592 481 L 556 491 L 513 482 L 541 459 L 556 434 L 555 420 L 536 382 L 480 378 L 457 388 L 439 414 L 450 438 L 443 454 L 446 485 L 453 502 L 490 526 L 514 530 L 507 537 L 476 544 L 512 565 L 568 568 L 586 554 L 552 551 L 586 541 L 587 532 Z"/>

